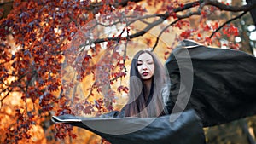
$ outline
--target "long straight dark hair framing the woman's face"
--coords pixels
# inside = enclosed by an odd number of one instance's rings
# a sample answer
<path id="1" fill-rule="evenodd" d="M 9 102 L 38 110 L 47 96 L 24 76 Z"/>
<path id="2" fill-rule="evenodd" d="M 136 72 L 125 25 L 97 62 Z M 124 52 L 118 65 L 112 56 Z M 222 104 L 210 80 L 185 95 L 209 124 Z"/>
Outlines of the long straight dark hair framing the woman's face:
<path id="1" fill-rule="evenodd" d="M 148 100 L 145 100 L 143 94 L 145 85 L 137 71 L 137 59 L 139 55 L 142 55 L 143 53 L 148 53 L 154 60 L 154 76 Z M 125 117 L 158 117 L 165 114 L 163 111 L 164 100 L 162 97 L 162 90 L 166 88 L 166 85 L 168 84 L 166 69 L 156 55 L 148 50 L 138 51 L 131 60 L 129 101 L 125 105 Z"/>

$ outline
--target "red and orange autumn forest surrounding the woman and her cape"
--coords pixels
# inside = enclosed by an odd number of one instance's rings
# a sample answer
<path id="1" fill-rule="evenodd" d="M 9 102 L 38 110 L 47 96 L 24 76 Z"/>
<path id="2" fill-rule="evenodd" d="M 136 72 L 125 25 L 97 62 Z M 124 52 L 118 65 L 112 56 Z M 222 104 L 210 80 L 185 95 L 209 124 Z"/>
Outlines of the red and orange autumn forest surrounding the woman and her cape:
<path id="1" fill-rule="evenodd" d="M 1 0 L 0 143 L 108 143 L 50 118 L 120 110 L 139 49 L 163 63 L 183 39 L 256 55 L 255 11 L 253 0 Z M 256 117 L 204 130 L 207 143 L 254 144 Z"/>

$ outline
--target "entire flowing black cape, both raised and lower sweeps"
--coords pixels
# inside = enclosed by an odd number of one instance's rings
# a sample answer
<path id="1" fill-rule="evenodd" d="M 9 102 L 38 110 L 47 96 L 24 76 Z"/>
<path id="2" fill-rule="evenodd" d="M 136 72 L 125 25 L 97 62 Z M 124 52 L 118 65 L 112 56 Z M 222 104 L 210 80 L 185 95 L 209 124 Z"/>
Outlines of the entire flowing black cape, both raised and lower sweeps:
<path id="1" fill-rule="evenodd" d="M 170 122 L 170 115 L 154 120 L 62 115 L 52 120 L 90 130 L 112 143 L 205 143 L 203 126 L 224 124 L 256 113 L 255 65 L 255 57 L 244 52 L 208 48 L 183 40 L 166 60 L 172 85 L 166 108 L 171 116 L 179 116 L 176 121 Z M 111 112 L 108 116 L 117 117 L 119 113 Z M 142 125 L 143 129 L 122 134 Z"/>

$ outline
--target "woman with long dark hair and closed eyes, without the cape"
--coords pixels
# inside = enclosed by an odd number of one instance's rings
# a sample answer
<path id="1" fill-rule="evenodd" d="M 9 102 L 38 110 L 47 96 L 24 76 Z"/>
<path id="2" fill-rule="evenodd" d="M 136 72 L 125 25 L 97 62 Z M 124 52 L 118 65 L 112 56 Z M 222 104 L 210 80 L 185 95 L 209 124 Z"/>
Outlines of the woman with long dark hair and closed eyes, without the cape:
<path id="1" fill-rule="evenodd" d="M 158 117 L 166 114 L 164 97 L 169 95 L 168 81 L 166 69 L 160 60 L 148 50 L 138 51 L 131 61 L 125 117 Z"/>

